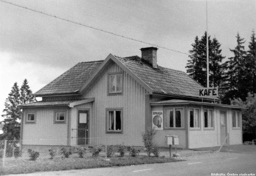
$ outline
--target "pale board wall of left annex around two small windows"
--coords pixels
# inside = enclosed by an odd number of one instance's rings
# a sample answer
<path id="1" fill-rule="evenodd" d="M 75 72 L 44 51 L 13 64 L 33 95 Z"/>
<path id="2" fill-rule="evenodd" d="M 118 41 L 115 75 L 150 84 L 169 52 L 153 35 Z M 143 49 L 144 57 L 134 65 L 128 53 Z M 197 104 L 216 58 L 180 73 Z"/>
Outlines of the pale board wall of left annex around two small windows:
<path id="1" fill-rule="evenodd" d="M 66 123 L 54 123 L 54 112 L 65 111 Z M 35 124 L 26 123 L 26 113 L 35 113 Z M 68 108 L 24 109 L 23 144 L 26 145 L 67 145 Z"/>

